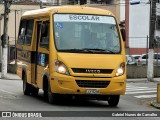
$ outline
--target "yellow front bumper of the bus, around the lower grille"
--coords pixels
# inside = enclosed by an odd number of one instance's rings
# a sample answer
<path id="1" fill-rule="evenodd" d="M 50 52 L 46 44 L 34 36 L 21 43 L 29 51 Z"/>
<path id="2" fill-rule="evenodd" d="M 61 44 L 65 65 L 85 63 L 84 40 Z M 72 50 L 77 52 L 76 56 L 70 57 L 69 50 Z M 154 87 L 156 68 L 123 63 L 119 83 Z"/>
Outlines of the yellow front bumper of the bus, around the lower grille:
<path id="1" fill-rule="evenodd" d="M 80 87 L 76 80 L 87 81 L 109 81 L 109 85 L 104 88 Z M 114 78 L 99 78 L 99 77 L 73 77 L 53 73 L 50 77 L 50 85 L 52 93 L 58 94 L 88 94 L 87 90 L 98 90 L 99 95 L 123 95 L 126 89 L 126 76 Z"/>

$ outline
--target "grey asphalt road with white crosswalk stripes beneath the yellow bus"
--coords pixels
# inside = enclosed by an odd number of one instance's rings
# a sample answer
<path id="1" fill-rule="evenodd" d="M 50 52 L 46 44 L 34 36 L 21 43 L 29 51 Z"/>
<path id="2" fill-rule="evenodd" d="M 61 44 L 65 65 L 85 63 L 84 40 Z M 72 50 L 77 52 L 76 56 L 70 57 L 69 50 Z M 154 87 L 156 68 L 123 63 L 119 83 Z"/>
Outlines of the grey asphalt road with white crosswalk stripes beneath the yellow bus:
<path id="1" fill-rule="evenodd" d="M 22 92 L 22 81 L 21 80 L 0 80 L 0 111 L 61 111 L 60 116 L 64 115 L 64 111 L 84 111 L 78 113 L 69 112 L 70 117 L 54 117 L 54 119 L 60 120 L 72 120 L 75 119 L 73 116 L 77 116 L 76 119 L 111 119 L 111 120 L 158 120 L 158 117 L 95 117 L 96 114 L 98 116 L 102 111 L 103 113 L 107 113 L 107 111 L 112 111 L 113 113 L 119 113 L 124 111 L 158 111 L 159 109 L 153 108 L 150 106 L 150 100 L 155 99 L 156 95 L 156 85 L 155 82 L 136 82 L 127 83 L 127 91 L 126 95 L 121 96 L 119 105 L 117 107 L 110 107 L 106 101 L 65 101 L 62 100 L 56 104 L 49 104 L 44 101 L 42 95 L 43 92 L 40 91 L 38 97 L 33 96 L 25 96 Z M 86 112 L 85 112 L 86 111 Z M 93 113 L 89 113 L 87 111 L 95 111 Z M 66 112 L 67 113 L 67 112 Z M 79 114 L 81 113 L 81 114 Z M 133 112 L 134 113 L 134 112 Z M 54 114 L 54 113 L 53 113 Z M 89 115 L 87 115 L 89 114 Z M 83 117 L 86 115 L 87 117 Z M 101 115 L 101 114 L 100 114 Z M 102 114 L 104 115 L 104 114 Z M 56 115 L 55 115 L 56 116 Z M 0 118 L 1 120 L 2 118 Z M 5 119 L 22 119 L 22 118 L 3 118 Z M 37 118 L 23 118 L 34 120 Z M 50 120 L 53 119 L 51 117 L 38 118 L 38 120 Z"/>

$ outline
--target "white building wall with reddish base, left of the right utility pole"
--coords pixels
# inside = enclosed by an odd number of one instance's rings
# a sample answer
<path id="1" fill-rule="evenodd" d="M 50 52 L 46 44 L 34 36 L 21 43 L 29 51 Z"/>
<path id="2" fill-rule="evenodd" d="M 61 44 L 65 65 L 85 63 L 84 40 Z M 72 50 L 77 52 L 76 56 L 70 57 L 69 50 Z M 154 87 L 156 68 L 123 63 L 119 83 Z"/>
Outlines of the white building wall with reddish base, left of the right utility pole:
<path id="1" fill-rule="evenodd" d="M 150 4 L 141 0 L 140 4 L 129 6 L 129 52 L 130 54 L 145 53 L 149 37 Z"/>

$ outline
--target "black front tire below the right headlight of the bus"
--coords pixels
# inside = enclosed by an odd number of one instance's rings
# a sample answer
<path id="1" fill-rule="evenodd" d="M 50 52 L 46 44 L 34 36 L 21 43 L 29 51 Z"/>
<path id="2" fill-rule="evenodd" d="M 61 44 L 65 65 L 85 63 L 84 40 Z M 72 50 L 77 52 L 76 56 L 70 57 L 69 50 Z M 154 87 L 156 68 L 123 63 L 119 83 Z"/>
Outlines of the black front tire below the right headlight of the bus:
<path id="1" fill-rule="evenodd" d="M 116 107 L 119 103 L 120 95 L 111 95 L 108 98 L 108 104 L 112 107 Z"/>

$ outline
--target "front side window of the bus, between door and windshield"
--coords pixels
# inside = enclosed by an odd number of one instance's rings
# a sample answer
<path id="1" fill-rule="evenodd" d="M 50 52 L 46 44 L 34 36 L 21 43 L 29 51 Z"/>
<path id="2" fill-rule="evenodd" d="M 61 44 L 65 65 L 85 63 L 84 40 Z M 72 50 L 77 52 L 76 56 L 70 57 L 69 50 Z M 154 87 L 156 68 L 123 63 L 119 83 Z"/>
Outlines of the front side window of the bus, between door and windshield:
<path id="1" fill-rule="evenodd" d="M 44 21 L 42 24 L 40 47 L 49 48 L 49 21 Z"/>

